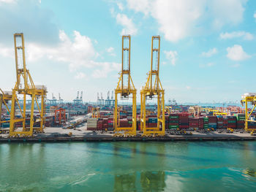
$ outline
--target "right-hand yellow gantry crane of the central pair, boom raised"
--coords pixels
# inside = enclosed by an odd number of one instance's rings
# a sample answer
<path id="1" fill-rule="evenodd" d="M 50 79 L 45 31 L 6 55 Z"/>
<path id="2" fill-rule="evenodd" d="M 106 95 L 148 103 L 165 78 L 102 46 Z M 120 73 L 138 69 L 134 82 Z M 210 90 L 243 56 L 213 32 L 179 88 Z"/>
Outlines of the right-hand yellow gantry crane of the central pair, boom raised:
<path id="1" fill-rule="evenodd" d="M 160 37 L 153 36 L 151 42 L 151 70 L 146 85 L 140 91 L 140 128 L 143 136 L 165 135 L 165 91 L 159 80 Z M 146 127 L 146 99 L 157 97 L 157 127 Z"/>

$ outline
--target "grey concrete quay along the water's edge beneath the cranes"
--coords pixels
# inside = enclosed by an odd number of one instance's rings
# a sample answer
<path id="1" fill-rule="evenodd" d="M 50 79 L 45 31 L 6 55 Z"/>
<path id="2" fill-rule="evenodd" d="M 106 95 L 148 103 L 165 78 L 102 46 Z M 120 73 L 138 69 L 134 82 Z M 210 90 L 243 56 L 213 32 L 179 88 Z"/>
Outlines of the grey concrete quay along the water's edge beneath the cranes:
<path id="1" fill-rule="evenodd" d="M 69 133 L 72 136 L 69 136 Z M 139 134 L 139 133 L 138 133 Z M 222 131 L 197 132 L 192 131 L 192 135 L 187 134 L 166 134 L 165 137 L 113 137 L 113 131 L 87 131 L 83 126 L 74 129 L 63 128 L 45 128 L 44 134 L 34 134 L 30 138 L 10 138 L 8 134 L 0 134 L 0 142 L 116 142 L 116 141 L 159 141 L 159 142 L 175 142 L 175 141 L 248 141 L 255 140 L 256 136 L 249 133 L 226 133 Z"/>

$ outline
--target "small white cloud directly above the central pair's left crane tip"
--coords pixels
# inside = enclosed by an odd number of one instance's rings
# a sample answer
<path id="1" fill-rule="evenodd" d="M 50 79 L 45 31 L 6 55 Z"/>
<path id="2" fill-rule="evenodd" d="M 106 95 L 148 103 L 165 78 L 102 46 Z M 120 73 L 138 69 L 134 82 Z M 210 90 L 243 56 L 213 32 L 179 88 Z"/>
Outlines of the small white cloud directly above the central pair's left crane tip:
<path id="1" fill-rule="evenodd" d="M 116 22 L 124 27 L 121 31 L 121 35 L 137 34 L 138 29 L 135 27 L 135 24 L 132 22 L 132 19 L 129 19 L 127 15 L 118 13 L 116 15 Z"/>

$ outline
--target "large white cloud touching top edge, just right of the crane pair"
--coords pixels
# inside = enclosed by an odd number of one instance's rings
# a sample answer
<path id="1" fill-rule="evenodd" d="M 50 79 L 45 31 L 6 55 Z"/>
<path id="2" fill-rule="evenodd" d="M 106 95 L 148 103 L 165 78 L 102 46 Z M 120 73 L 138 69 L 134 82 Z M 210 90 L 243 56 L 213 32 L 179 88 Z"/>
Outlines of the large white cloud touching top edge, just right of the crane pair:
<path id="1" fill-rule="evenodd" d="M 176 42 L 187 37 L 192 24 L 202 14 L 198 1 L 157 0 L 152 4 L 151 15 L 159 23 L 159 31 L 165 34 L 165 39 Z"/>

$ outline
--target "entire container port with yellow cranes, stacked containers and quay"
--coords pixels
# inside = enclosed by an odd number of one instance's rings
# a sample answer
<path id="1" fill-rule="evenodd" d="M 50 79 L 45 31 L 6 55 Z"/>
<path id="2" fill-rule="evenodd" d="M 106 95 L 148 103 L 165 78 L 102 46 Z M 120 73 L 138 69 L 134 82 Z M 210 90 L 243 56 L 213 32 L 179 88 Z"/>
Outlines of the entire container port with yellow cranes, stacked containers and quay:
<path id="1" fill-rule="evenodd" d="M 95 104 L 83 101 L 83 91 L 72 102 L 60 93 L 46 99 L 47 88 L 34 85 L 26 68 L 24 35 L 14 34 L 14 42 L 16 83 L 12 91 L 0 90 L 0 142 L 256 140 L 256 93 L 244 93 L 241 107 L 166 104 L 159 36 L 151 38 L 150 70 L 140 93 L 130 73 L 131 36 L 122 37 L 118 85 L 107 99 L 97 93 Z"/>

